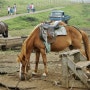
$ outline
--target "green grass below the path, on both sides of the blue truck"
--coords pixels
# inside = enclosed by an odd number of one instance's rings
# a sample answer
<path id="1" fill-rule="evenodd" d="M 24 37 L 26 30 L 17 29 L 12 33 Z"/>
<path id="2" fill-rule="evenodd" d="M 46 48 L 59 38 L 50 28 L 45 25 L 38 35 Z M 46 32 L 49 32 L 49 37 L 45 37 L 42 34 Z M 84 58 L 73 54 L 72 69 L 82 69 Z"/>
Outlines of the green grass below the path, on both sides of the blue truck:
<path id="1" fill-rule="evenodd" d="M 90 28 L 90 4 L 71 4 L 62 8 L 66 14 L 71 16 L 69 24 L 79 28 Z M 51 11 L 28 14 L 14 19 L 6 20 L 9 26 L 9 34 L 12 36 L 28 35 L 33 28 L 43 22 L 49 20 Z"/>

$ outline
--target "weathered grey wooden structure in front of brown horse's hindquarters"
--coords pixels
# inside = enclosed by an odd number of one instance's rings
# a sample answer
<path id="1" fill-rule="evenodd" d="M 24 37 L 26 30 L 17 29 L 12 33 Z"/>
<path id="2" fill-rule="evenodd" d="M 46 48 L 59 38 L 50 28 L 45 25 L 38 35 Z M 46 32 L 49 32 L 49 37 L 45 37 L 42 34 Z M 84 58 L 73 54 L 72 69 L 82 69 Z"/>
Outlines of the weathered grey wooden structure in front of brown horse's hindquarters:
<path id="1" fill-rule="evenodd" d="M 89 79 L 85 71 L 82 69 L 83 67 L 87 67 L 90 65 L 90 61 L 86 61 L 86 58 L 80 54 L 78 50 L 72 50 L 69 52 L 62 53 L 60 56 L 62 59 L 62 86 L 72 87 L 72 82 L 74 83 L 73 87 L 82 87 L 82 88 L 90 88 Z M 73 56 L 74 59 L 71 58 Z M 75 61 L 76 60 L 76 61 Z M 77 62 L 77 63 L 76 63 Z M 80 80 L 77 84 L 77 81 L 71 81 L 69 79 L 70 73 L 69 69 L 75 74 Z M 72 75 L 73 76 L 73 75 Z M 74 77 L 73 77 L 74 78 Z"/>

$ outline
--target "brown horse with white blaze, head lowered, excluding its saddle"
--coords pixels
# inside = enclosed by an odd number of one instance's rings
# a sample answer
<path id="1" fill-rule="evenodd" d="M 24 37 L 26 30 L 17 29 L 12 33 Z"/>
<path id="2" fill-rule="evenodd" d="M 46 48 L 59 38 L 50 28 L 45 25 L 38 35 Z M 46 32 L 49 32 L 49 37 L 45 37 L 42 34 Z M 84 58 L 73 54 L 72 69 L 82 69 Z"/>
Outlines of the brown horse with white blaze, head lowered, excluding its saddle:
<path id="1" fill-rule="evenodd" d="M 82 30 L 77 30 L 73 26 L 68 26 L 63 22 L 59 23 L 66 28 L 67 35 L 66 36 L 57 36 L 55 41 L 51 44 L 51 51 L 58 52 L 62 51 L 65 48 L 69 47 L 70 49 L 80 49 L 81 53 L 86 55 L 87 60 L 90 60 L 90 52 L 89 52 L 89 40 L 87 34 Z M 36 52 L 36 66 L 34 74 L 37 73 L 38 70 L 38 62 L 40 53 L 43 58 L 44 63 L 44 73 L 46 76 L 48 73 L 47 70 L 47 57 L 46 57 L 46 47 L 43 41 L 40 39 L 40 27 L 41 24 L 37 25 L 33 32 L 28 36 L 28 38 L 24 41 L 22 45 L 22 49 L 20 54 L 18 55 L 18 61 L 20 62 L 20 79 L 23 80 L 27 76 L 27 72 L 30 67 L 30 55 L 33 50 Z M 49 35 L 48 35 L 49 38 Z M 82 47 L 82 41 L 85 46 L 85 53 Z"/>

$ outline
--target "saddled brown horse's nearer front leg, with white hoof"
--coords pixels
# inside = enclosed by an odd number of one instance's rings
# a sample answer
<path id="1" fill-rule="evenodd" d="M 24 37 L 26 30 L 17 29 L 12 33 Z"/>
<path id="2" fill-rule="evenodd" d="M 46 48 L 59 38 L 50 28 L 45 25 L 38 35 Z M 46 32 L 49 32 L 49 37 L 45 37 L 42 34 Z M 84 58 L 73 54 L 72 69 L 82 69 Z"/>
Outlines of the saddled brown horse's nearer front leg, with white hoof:
<path id="1" fill-rule="evenodd" d="M 45 49 L 41 49 L 40 52 L 41 52 L 41 55 L 42 55 L 42 58 L 43 58 L 43 64 L 44 64 L 44 73 L 43 73 L 43 76 L 46 77 L 47 74 L 48 74 L 46 51 L 45 51 Z"/>

